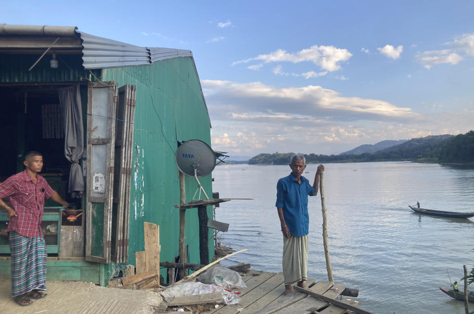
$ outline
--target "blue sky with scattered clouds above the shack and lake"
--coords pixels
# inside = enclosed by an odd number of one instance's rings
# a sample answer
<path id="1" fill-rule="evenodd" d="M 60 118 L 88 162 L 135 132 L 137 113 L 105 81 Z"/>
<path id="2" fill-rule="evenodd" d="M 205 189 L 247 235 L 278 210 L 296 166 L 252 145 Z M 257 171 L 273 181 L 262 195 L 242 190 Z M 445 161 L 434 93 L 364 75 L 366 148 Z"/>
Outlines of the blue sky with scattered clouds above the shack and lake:
<path id="1" fill-rule="evenodd" d="M 474 129 L 474 1 L 5 1 L 0 23 L 189 49 L 214 150 L 338 154 Z"/>

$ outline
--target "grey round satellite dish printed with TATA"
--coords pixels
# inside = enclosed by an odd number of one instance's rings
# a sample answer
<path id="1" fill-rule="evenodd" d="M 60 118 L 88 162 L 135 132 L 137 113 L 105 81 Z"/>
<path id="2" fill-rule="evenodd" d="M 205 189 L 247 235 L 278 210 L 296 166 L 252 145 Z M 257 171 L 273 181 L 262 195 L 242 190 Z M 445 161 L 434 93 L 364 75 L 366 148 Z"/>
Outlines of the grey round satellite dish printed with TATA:
<path id="1" fill-rule="evenodd" d="M 174 154 L 176 166 L 188 176 L 204 176 L 216 167 L 214 151 L 202 140 L 183 142 Z"/>

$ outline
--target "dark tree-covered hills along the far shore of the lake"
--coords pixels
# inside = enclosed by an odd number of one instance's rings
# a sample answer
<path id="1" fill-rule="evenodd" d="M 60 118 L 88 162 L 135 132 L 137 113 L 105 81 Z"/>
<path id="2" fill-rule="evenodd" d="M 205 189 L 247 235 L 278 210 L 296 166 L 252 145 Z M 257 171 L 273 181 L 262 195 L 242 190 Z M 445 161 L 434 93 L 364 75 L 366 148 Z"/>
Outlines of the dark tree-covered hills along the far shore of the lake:
<path id="1" fill-rule="evenodd" d="M 286 165 L 295 153 L 263 153 L 249 159 L 249 165 Z M 334 162 L 417 161 L 448 164 L 474 164 L 474 131 L 457 136 L 437 135 L 411 139 L 373 153 L 302 154 L 307 164 Z"/>

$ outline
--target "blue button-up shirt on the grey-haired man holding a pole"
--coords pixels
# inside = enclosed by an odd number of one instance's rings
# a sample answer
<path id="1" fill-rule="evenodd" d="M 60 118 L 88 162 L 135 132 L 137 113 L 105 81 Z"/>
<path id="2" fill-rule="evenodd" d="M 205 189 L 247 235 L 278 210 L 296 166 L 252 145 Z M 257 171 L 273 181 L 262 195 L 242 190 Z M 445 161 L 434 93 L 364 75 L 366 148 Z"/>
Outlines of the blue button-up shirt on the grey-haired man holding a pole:
<path id="1" fill-rule="evenodd" d="M 283 209 L 283 217 L 293 236 L 308 234 L 308 195 L 315 195 L 315 188 L 304 176 L 301 176 L 301 183 L 290 174 L 279 179 L 276 184 L 275 206 Z"/>

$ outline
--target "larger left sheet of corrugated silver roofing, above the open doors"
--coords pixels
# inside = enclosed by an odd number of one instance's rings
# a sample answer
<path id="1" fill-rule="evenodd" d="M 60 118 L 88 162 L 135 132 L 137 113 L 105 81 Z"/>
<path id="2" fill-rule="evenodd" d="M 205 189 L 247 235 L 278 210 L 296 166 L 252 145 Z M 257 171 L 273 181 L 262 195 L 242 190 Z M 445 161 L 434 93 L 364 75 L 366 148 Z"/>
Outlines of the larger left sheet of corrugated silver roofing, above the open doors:
<path id="1" fill-rule="evenodd" d="M 82 39 L 82 65 L 85 69 L 106 69 L 149 65 L 150 52 L 145 47 L 77 32 Z"/>

